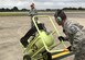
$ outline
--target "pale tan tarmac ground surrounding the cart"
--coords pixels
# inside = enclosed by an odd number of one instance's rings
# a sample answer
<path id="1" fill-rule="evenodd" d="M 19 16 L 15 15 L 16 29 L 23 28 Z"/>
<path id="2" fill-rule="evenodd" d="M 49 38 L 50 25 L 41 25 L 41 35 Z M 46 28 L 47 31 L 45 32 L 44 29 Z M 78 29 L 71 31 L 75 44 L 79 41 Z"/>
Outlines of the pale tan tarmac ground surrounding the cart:
<path id="1" fill-rule="evenodd" d="M 85 26 L 85 13 L 67 14 Z M 52 16 L 54 20 L 54 17 Z M 0 60 L 23 60 L 23 48 L 20 38 L 30 29 L 30 16 L 0 16 Z M 62 34 L 62 28 L 59 27 Z M 73 60 L 74 56 L 61 59 Z"/>

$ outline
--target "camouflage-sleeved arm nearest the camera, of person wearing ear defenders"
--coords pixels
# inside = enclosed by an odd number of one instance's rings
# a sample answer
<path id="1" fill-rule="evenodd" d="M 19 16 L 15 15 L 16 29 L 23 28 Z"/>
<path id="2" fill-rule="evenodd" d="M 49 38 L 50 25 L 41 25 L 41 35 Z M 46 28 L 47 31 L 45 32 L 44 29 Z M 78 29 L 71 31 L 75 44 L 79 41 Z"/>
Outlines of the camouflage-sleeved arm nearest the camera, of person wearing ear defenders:
<path id="1" fill-rule="evenodd" d="M 81 26 L 78 26 L 77 24 L 72 24 L 70 27 L 68 27 L 68 33 L 71 35 L 73 35 L 73 40 L 72 40 L 72 50 L 77 52 L 78 51 L 78 46 L 82 41 L 82 38 L 83 38 L 83 32 L 82 32 L 82 28 Z"/>

